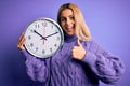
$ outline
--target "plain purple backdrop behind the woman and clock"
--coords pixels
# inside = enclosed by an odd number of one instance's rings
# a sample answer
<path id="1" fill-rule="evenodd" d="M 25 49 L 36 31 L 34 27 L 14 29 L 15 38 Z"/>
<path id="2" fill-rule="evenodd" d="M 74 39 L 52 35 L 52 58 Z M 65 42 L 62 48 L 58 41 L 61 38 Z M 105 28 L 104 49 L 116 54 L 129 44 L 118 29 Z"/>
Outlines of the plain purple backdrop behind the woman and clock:
<path id="1" fill-rule="evenodd" d="M 36 18 L 56 20 L 65 2 L 78 4 L 93 39 L 123 60 L 126 72 L 114 86 L 130 86 L 130 0 L 0 0 L 0 86 L 42 86 L 27 76 L 17 39 Z"/>

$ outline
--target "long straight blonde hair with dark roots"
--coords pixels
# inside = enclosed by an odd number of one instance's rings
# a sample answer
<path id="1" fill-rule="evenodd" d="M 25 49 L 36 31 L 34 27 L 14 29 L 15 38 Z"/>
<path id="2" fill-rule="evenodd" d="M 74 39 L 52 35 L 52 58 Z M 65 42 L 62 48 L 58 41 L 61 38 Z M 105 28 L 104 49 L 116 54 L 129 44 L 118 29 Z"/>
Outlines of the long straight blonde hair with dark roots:
<path id="1" fill-rule="evenodd" d="M 89 28 L 83 19 L 80 9 L 76 4 L 65 3 L 58 9 L 57 23 L 60 24 L 60 26 L 61 26 L 61 12 L 65 9 L 70 9 L 74 13 L 76 35 L 83 41 L 90 40 L 91 34 Z"/>

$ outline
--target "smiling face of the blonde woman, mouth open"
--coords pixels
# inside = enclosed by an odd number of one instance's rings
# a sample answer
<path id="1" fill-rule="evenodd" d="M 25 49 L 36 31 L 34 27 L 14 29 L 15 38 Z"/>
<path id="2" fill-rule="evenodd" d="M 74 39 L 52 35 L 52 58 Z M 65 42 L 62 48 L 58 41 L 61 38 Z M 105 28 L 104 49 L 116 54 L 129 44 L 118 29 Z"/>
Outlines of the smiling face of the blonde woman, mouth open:
<path id="1" fill-rule="evenodd" d="M 75 34 L 75 17 L 70 9 L 61 12 L 61 26 L 67 34 Z"/>

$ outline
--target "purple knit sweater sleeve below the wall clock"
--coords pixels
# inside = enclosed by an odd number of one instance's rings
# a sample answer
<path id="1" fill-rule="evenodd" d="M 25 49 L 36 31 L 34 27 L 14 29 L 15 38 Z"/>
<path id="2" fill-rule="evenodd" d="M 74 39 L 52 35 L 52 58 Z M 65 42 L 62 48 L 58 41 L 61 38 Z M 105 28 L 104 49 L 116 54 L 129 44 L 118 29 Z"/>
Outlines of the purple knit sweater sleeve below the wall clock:
<path id="1" fill-rule="evenodd" d="M 34 81 L 47 82 L 50 75 L 50 58 L 40 59 L 30 54 L 27 51 L 23 51 L 26 56 L 26 70 L 28 76 Z"/>

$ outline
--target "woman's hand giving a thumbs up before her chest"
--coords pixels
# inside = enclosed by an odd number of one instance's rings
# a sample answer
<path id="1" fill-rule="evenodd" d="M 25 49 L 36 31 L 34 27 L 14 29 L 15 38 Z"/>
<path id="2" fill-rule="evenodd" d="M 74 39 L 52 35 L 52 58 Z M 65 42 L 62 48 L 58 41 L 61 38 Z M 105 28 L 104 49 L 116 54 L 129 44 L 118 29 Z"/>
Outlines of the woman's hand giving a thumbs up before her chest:
<path id="1" fill-rule="evenodd" d="M 84 55 L 86 55 L 86 49 L 83 48 L 82 44 L 80 43 L 80 40 L 77 40 L 77 46 L 74 46 L 72 49 L 72 55 L 73 58 L 81 60 L 83 59 Z"/>

